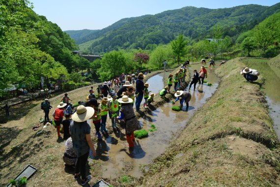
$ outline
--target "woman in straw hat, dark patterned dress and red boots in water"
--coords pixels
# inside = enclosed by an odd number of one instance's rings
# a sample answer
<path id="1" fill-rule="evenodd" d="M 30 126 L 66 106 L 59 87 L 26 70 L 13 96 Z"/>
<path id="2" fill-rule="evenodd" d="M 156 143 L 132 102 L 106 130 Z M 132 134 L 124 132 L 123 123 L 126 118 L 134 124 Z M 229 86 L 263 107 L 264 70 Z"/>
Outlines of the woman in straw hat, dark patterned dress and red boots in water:
<path id="1" fill-rule="evenodd" d="M 130 104 L 132 102 L 132 99 L 129 98 L 127 95 L 124 95 L 118 99 L 118 102 L 121 103 L 121 108 L 120 108 L 120 117 L 117 117 L 117 119 L 125 121 L 126 140 L 129 148 L 133 149 L 134 131 L 140 130 L 141 127 L 134 114 L 133 105 Z"/>

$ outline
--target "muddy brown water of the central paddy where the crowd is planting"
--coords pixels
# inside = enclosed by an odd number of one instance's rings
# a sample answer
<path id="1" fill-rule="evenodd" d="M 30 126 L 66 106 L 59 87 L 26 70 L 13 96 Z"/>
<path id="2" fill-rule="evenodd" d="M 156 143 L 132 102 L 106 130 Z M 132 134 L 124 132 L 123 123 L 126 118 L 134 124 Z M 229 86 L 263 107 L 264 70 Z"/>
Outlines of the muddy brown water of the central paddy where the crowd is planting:
<path id="1" fill-rule="evenodd" d="M 190 69 L 200 69 L 200 65 L 192 65 Z M 129 152 L 125 139 L 124 130 L 112 134 L 106 141 L 97 144 L 96 159 L 102 161 L 103 177 L 114 178 L 121 174 L 128 174 L 135 177 L 141 177 L 140 166 L 152 162 L 152 159 L 162 154 L 168 146 L 173 134 L 183 129 L 189 118 L 195 111 L 201 107 L 206 99 L 209 98 L 218 87 L 218 80 L 214 75 L 214 68 L 207 69 L 208 78 L 206 79 L 213 86 L 196 85 L 199 92 L 191 90 L 192 99 L 190 101 L 189 111 L 175 112 L 171 110 L 172 104 L 167 103 L 164 106 L 152 111 L 140 119 L 143 129 L 150 129 L 150 125 L 154 124 L 157 130 L 149 132 L 149 136 L 143 139 L 136 139 L 135 148 Z M 157 77 L 157 78 L 156 78 Z M 158 75 L 150 78 L 150 87 L 156 87 L 162 82 L 162 76 Z M 158 87 L 160 88 L 160 87 Z M 162 86 L 161 86 L 162 88 Z M 155 93 L 158 93 L 153 91 Z M 179 105 L 176 103 L 175 105 Z M 183 110 L 186 106 L 183 107 Z"/>

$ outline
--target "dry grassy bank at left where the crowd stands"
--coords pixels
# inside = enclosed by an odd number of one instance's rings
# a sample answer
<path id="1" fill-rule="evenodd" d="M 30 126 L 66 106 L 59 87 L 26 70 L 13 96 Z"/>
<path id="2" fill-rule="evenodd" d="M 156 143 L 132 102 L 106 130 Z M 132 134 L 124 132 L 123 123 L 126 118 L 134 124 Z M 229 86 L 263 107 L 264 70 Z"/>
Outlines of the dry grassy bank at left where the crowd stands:
<path id="1" fill-rule="evenodd" d="M 152 72 L 145 77 L 145 80 L 161 72 L 163 71 Z M 92 86 L 96 92 L 98 84 Z M 72 102 L 75 103 L 84 100 L 89 89 L 90 86 L 80 88 L 68 92 L 68 95 L 73 100 Z M 63 94 L 50 99 L 54 107 L 50 111 L 50 118 L 62 96 Z M 26 104 L 28 105 L 28 103 Z M 0 131 L 4 136 L 1 139 L 5 140 L 5 143 L 1 144 L 0 150 L 0 184 L 6 185 L 10 179 L 14 178 L 28 164 L 31 164 L 38 171 L 28 180 L 28 186 L 61 186 L 61 184 L 78 186 L 77 182 L 73 180 L 73 171 L 64 166 L 62 155 L 65 146 L 62 141 L 57 141 L 56 129 L 53 126 L 49 126 L 40 135 L 35 135 L 38 131 L 32 130 L 32 126 L 39 124 L 40 117 L 44 117 L 44 113 L 39 104 L 33 108 L 28 108 L 28 111 L 25 111 L 23 116 L 10 119 L 7 123 L 1 125 Z M 107 126 L 111 130 L 111 120 L 109 119 Z M 91 136 L 92 140 L 96 141 L 94 133 L 95 130 L 92 130 Z M 101 167 L 98 160 L 93 160 L 93 162 L 89 163 L 88 170 L 94 178 L 100 178 L 102 173 L 98 168 Z M 92 181 L 95 181 L 95 179 Z"/>

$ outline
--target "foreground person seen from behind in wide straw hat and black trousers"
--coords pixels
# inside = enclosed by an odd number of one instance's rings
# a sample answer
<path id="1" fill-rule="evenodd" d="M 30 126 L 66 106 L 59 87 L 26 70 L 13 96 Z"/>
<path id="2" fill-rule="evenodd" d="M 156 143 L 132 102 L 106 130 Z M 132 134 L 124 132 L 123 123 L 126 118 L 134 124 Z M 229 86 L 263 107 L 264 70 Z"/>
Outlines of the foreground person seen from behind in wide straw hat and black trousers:
<path id="1" fill-rule="evenodd" d="M 74 152 L 77 155 L 74 179 L 77 180 L 81 176 L 82 185 L 85 185 L 91 179 L 90 175 L 85 176 L 89 151 L 92 150 L 93 156 L 96 156 L 96 151 L 90 137 L 90 125 L 86 122 L 93 118 L 93 115 L 94 109 L 92 107 L 80 105 L 73 114 L 69 127 Z"/>

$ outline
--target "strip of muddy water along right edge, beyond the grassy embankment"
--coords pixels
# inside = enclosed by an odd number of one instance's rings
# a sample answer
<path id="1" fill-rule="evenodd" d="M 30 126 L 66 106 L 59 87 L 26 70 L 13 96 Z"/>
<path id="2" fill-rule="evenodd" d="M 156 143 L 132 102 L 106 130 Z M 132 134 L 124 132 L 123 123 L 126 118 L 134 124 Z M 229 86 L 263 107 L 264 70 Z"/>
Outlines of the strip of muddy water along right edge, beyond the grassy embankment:
<path id="1" fill-rule="evenodd" d="M 280 78 L 271 67 L 262 60 L 256 62 L 245 62 L 252 69 L 256 69 L 265 78 L 262 90 L 266 94 L 266 99 L 270 108 L 270 116 L 274 121 L 274 130 L 280 140 Z"/>

